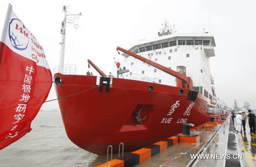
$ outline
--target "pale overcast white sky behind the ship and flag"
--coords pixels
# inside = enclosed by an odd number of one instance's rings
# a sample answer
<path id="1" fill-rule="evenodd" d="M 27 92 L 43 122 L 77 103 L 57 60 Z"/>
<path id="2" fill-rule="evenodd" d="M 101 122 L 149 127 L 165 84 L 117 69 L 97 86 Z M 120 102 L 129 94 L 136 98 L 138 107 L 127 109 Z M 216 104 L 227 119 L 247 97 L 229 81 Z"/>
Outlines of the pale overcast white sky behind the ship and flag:
<path id="1" fill-rule="evenodd" d="M 79 29 L 67 27 L 65 64 L 76 64 L 86 75 L 87 59 L 106 74 L 112 72 L 116 46 L 127 49 L 138 39 L 154 38 L 164 20 L 178 32 L 201 32 L 215 37 L 211 74 L 218 97 L 233 107 L 249 102 L 256 109 L 256 1 L 255 0 L 1 0 L 0 31 L 8 4 L 44 47 L 49 66 L 59 63 L 63 5 L 73 14 L 83 14 Z M 70 58 L 69 58 L 70 57 Z M 69 60 L 69 62 L 68 62 Z M 54 86 L 47 100 L 56 98 Z M 42 109 L 58 109 L 57 101 Z"/>

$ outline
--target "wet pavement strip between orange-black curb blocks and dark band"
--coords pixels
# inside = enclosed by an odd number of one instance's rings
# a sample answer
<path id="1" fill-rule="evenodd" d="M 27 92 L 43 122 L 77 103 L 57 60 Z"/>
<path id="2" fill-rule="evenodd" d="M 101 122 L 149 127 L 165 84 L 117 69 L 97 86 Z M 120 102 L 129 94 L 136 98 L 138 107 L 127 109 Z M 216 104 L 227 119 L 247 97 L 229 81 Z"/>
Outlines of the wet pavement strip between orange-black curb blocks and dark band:
<path id="1" fill-rule="evenodd" d="M 180 142 L 154 155 L 141 164 L 138 164 L 136 167 L 185 167 L 189 165 L 196 167 L 222 166 L 224 160 L 207 159 L 205 161 L 193 161 L 191 155 L 200 152 L 203 154 L 224 154 L 226 151 L 225 148 L 227 147 L 228 131 L 229 121 L 225 121 L 222 125 L 219 124 L 217 127 L 213 127 L 212 130 L 201 130 L 198 132 L 200 135 L 200 144 Z"/>

